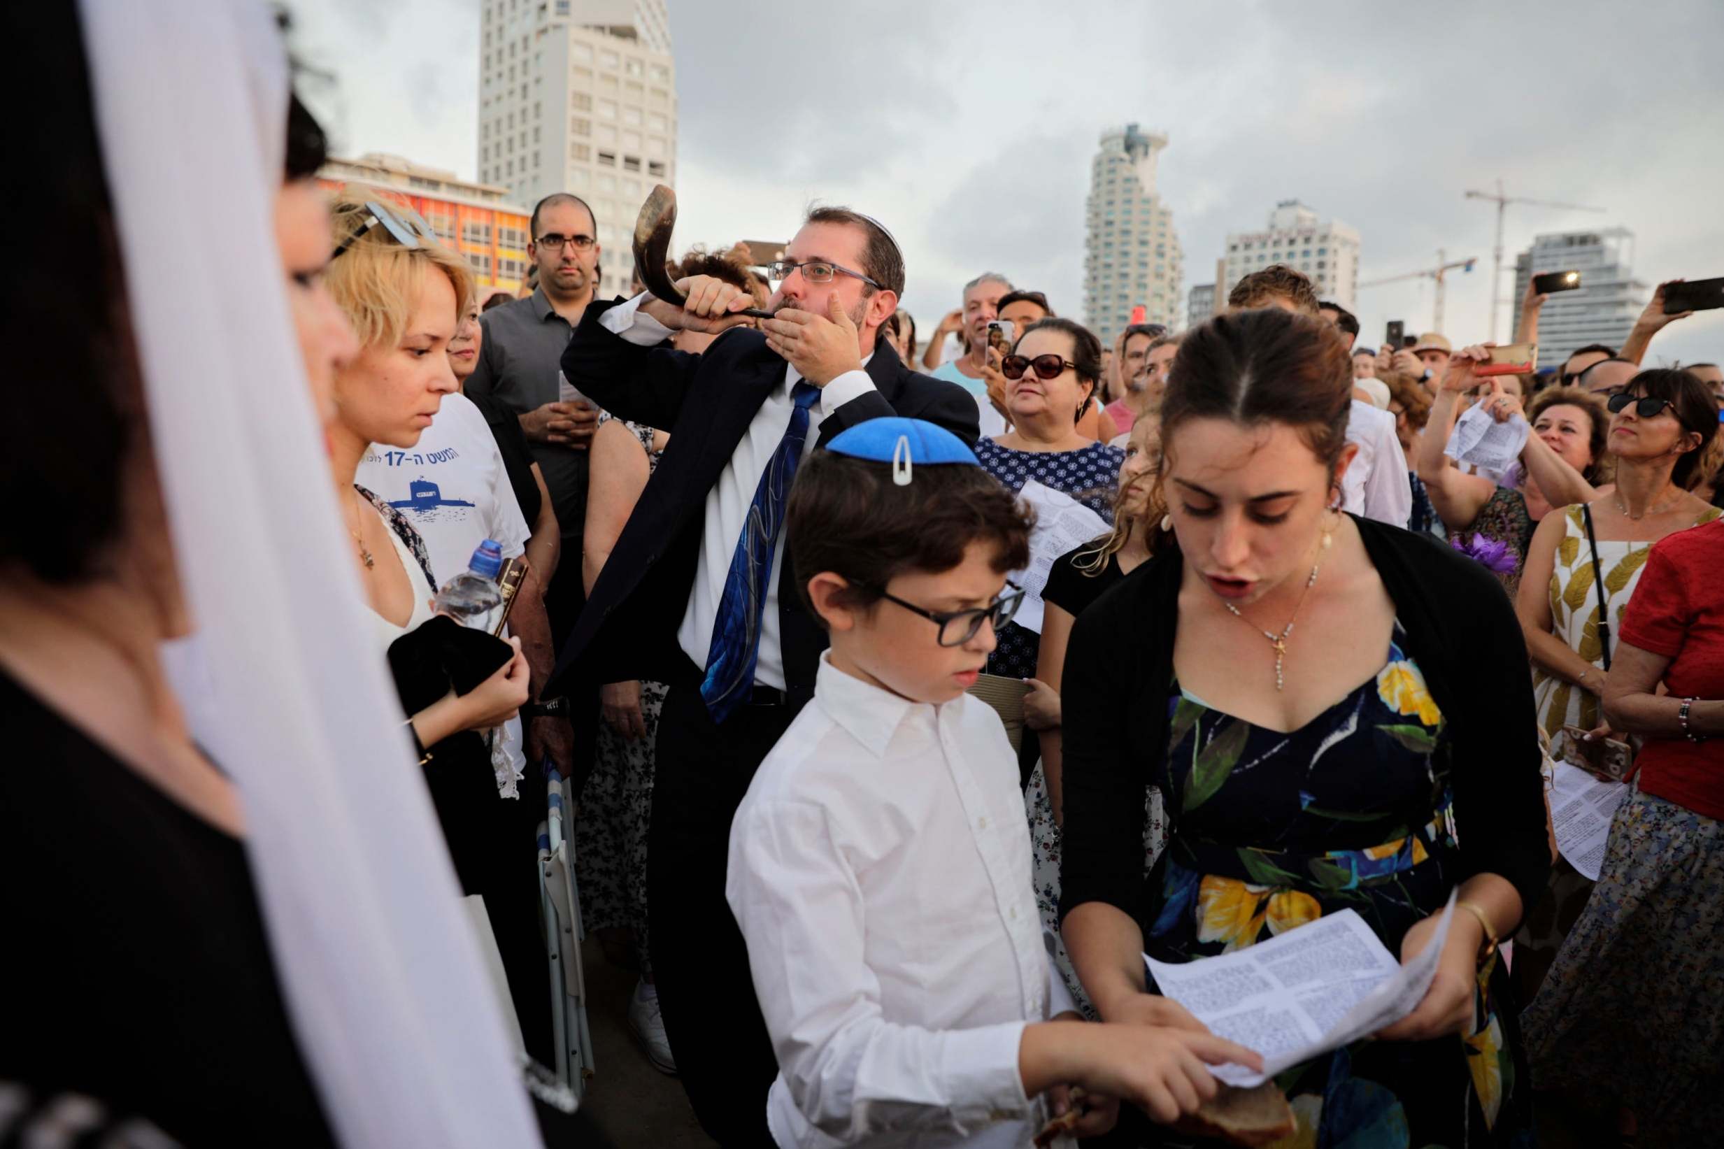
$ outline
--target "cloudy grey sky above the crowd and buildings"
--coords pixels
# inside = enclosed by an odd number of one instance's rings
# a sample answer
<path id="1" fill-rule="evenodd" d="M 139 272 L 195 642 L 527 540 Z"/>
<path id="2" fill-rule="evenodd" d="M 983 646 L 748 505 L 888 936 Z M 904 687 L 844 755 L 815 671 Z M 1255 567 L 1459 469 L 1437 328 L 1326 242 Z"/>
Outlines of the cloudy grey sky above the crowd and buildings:
<path id="1" fill-rule="evenodd" d="M 309 91 L 341 153 L 476 174 L 481 0 L 290 0 Z M 1186 283 L 1229 231 L 1300 198 L 1364 238 L 1360 277 L 1479 257 L 1445 327 L 1483 339 L 1495 207 L 1505 265 L 1541 231 L 1626 226 L 1634 276 L 1724 276 L 1724 3 L 869 5 L 669 0 L 681 112 L 678 243 L 788 238 L 810 200 L 884 220 L 926 326 L 981 269 L 1081 310 L 1083 207 L 1100 133 L 1171 138 L 1160 189 Z M 1503 276 L 1502 295 L 1512 293 Z M 1431 284 L 1364 289 L 1364 341 L 1429 326 Z M 1505 307 L 1500 329 L 1508 326 Z M 1724 312 L 1652 360 L 1724 360 Z"/>

